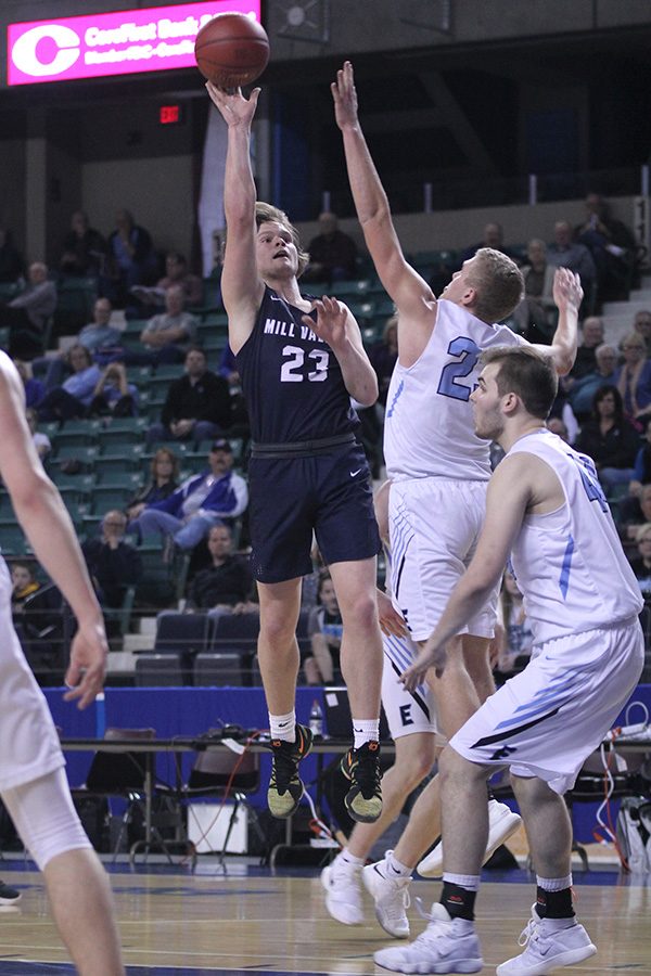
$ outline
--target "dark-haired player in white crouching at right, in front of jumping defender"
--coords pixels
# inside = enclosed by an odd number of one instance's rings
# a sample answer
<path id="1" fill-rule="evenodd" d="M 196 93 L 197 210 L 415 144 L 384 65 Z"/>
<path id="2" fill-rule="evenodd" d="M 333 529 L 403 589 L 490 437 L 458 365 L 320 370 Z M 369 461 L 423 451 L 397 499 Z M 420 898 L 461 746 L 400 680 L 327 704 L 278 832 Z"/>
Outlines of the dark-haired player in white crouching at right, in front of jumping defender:
<path id="1" fill-rule="evenodd" d="M 416 941 L 375 953 L 399 973 L 477 973 L 474 900 L 486 836 L 485 780 L 510 767 L 537 874 L 526 948 L 499 976 L 542 976 L 597 951 L 572 908 L 572 826 L 563 794 L 639 680 L 639 587 L 595 465 L 545 428 L 557 380 L 531 349 L 493 349 L 472 394 L 475 431 L 507 457 L 490 479 L 475 556 L 403 680 L 446 667 L 446 643 L 485 601 L 509 552 L 534 631 L 527 667 L 454 735 L 439 760 L 441 901 Z"/>

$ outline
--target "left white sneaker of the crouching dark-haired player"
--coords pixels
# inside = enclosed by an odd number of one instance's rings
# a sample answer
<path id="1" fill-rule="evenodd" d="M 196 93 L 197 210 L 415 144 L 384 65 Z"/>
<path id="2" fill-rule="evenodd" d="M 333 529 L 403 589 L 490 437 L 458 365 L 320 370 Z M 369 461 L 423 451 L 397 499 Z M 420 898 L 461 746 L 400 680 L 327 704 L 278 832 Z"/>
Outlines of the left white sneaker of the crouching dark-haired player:
<path id="1" fill-rule="evenodd" d="M 478 973 L 484 960 L 470 923 L 450 919 L 443 904 L 433 904 L 426 917 L 430 924 L 413 942 L 375 952 L 378 965 L 394 973 Z"/>

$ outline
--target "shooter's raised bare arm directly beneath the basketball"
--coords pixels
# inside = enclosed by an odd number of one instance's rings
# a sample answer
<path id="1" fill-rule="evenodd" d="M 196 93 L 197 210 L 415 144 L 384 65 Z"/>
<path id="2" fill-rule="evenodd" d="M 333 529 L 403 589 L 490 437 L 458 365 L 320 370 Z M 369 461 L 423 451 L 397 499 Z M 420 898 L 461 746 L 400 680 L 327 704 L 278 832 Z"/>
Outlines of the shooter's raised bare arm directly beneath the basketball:
<path id="1" fill-rule="evenodd" d="M 227 240 L 221 295 L 228 312 L 229 344 L 237 354 L 251 335 L 265 291 L 255 256 L 256 193 L 251 168 L 251 125 L 260 89 L 255 88 L 248 100 L 240 88 L 229 94 L 207 81 L 206 89 L 228 126 L 224 182 Z"/>

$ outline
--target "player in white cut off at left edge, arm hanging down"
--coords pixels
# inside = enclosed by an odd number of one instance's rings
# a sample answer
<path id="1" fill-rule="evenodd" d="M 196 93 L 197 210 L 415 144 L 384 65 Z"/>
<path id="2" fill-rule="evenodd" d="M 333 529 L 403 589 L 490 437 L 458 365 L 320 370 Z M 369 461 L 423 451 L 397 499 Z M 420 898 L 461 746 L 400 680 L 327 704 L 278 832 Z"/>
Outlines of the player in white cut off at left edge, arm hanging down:
<path id="1" fill-rule="evenodd" d="M 73 524 L 34 450 L 23 383 L 0 352 L 0 475 L 34 551 L 73 608 L 78 630 L 65 680 L 79 708 L 101 690 L 104 624 Z M 11 580 L 0 557 L 0 796 L 43 872 L 52 914 L 77 972 L 122 976 L 108 879 L 73 806 L 59 736 L 11 620 Z"/>

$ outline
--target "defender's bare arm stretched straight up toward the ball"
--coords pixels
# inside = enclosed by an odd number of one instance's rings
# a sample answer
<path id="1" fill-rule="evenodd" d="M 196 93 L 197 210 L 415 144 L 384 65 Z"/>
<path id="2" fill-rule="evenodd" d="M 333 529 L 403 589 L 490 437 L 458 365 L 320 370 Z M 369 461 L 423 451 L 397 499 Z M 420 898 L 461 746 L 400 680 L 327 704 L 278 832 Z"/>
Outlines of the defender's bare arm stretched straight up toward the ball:
<path id="1" fill-rule="evenodd" d="M 380 280 L 400 313 L 406 313 L 416 321 L 421 317 L 430 321 L 435 298 L 427 283 L 405 260 L 386 193 L 359 124 L 357 92 L 349 61 L 337 72 L 331 91 L 336 124 L 344 138 L 353 200 Z"/>

